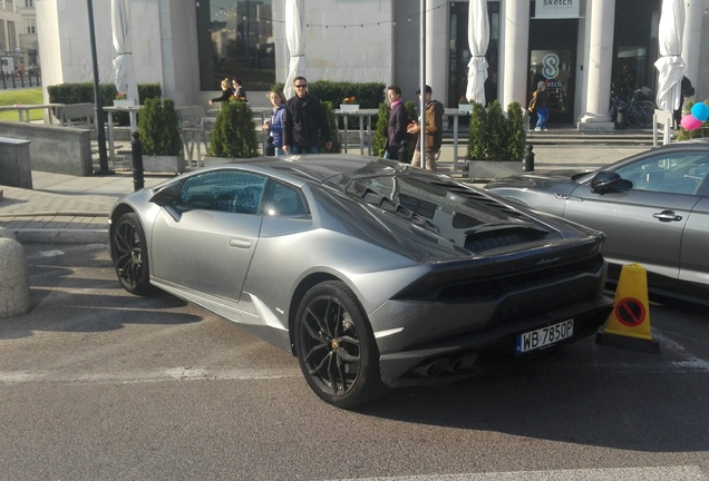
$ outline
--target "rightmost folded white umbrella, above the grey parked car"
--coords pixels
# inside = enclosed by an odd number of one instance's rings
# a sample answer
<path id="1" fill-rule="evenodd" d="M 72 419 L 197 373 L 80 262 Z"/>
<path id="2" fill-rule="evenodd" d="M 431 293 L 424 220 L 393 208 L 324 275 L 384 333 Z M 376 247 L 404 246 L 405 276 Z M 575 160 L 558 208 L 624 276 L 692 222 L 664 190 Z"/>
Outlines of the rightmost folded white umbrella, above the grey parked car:
<path id="1" fill-rule="evenodd" d="M 658 108 L 673 111 L 679 108 L 681 82 L 687 73 L 682 60 L 682 31 L 684 30 L 684 0 L 662 0 L 658 29 L 660 58 L 654 62 L 658 77 Z"/>

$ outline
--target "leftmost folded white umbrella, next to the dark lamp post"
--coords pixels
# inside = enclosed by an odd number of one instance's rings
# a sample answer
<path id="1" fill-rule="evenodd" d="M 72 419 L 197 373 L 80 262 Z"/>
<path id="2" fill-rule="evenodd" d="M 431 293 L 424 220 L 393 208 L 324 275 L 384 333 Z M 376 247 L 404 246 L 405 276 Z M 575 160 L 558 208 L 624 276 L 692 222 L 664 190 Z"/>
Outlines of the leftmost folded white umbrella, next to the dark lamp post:
<path id="1" fill-rule="evenodd" d="M 130 49 L 130 0 L 110 0 L 110 27 L 114 36 L 114 84 L 119 94 L 127 94 L 134 106 L 140 104 Z M 135 114 L 130 112 L 130 130 L 135 131 Z"/>

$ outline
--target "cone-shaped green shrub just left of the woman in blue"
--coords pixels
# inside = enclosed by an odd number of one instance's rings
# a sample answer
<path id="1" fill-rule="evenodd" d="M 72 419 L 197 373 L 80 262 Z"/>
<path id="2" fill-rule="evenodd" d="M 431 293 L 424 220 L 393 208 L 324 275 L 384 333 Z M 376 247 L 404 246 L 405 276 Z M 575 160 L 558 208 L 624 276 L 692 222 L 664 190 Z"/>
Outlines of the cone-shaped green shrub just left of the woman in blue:
<path id="1" fill-rule="evenodd" d="M 216 115 L 204 165 L 215 165 L 234 158 L 259 155 L 259 138 L 253 112 L 243 99 L 232 97 L 222 104 Z"/>

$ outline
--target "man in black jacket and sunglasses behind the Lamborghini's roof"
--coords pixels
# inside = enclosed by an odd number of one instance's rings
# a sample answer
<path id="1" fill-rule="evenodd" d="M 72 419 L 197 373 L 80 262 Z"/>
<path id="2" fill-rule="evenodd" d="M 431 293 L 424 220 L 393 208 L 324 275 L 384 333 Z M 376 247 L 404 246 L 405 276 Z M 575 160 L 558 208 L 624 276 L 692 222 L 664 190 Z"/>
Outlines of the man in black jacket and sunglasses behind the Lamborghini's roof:
<path id="1" fill-rule="evenodd" d="M 320 139 L 332 147 L 330 126 L 320 99 L 308 92 L 308 80 L 295 77 L 295 95 L 285 101 L 283 150 L 285 154 L 318 154 Z"/>

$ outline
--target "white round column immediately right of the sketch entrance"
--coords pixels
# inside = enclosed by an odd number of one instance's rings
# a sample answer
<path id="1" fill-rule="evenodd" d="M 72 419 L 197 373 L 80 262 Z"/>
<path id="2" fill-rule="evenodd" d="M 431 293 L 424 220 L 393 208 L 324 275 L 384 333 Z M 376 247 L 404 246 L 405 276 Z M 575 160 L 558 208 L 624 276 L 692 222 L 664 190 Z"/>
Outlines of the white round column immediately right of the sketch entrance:
<path id="1" fill-rule="evenodd" d="M 579 120 L 579 130 L 613 128 L 611 101 L 611 69 L 613 63 L 613 26 L 615 0 L 587 0 L 589 59 L 585 62 L 586 111 Z"/>

